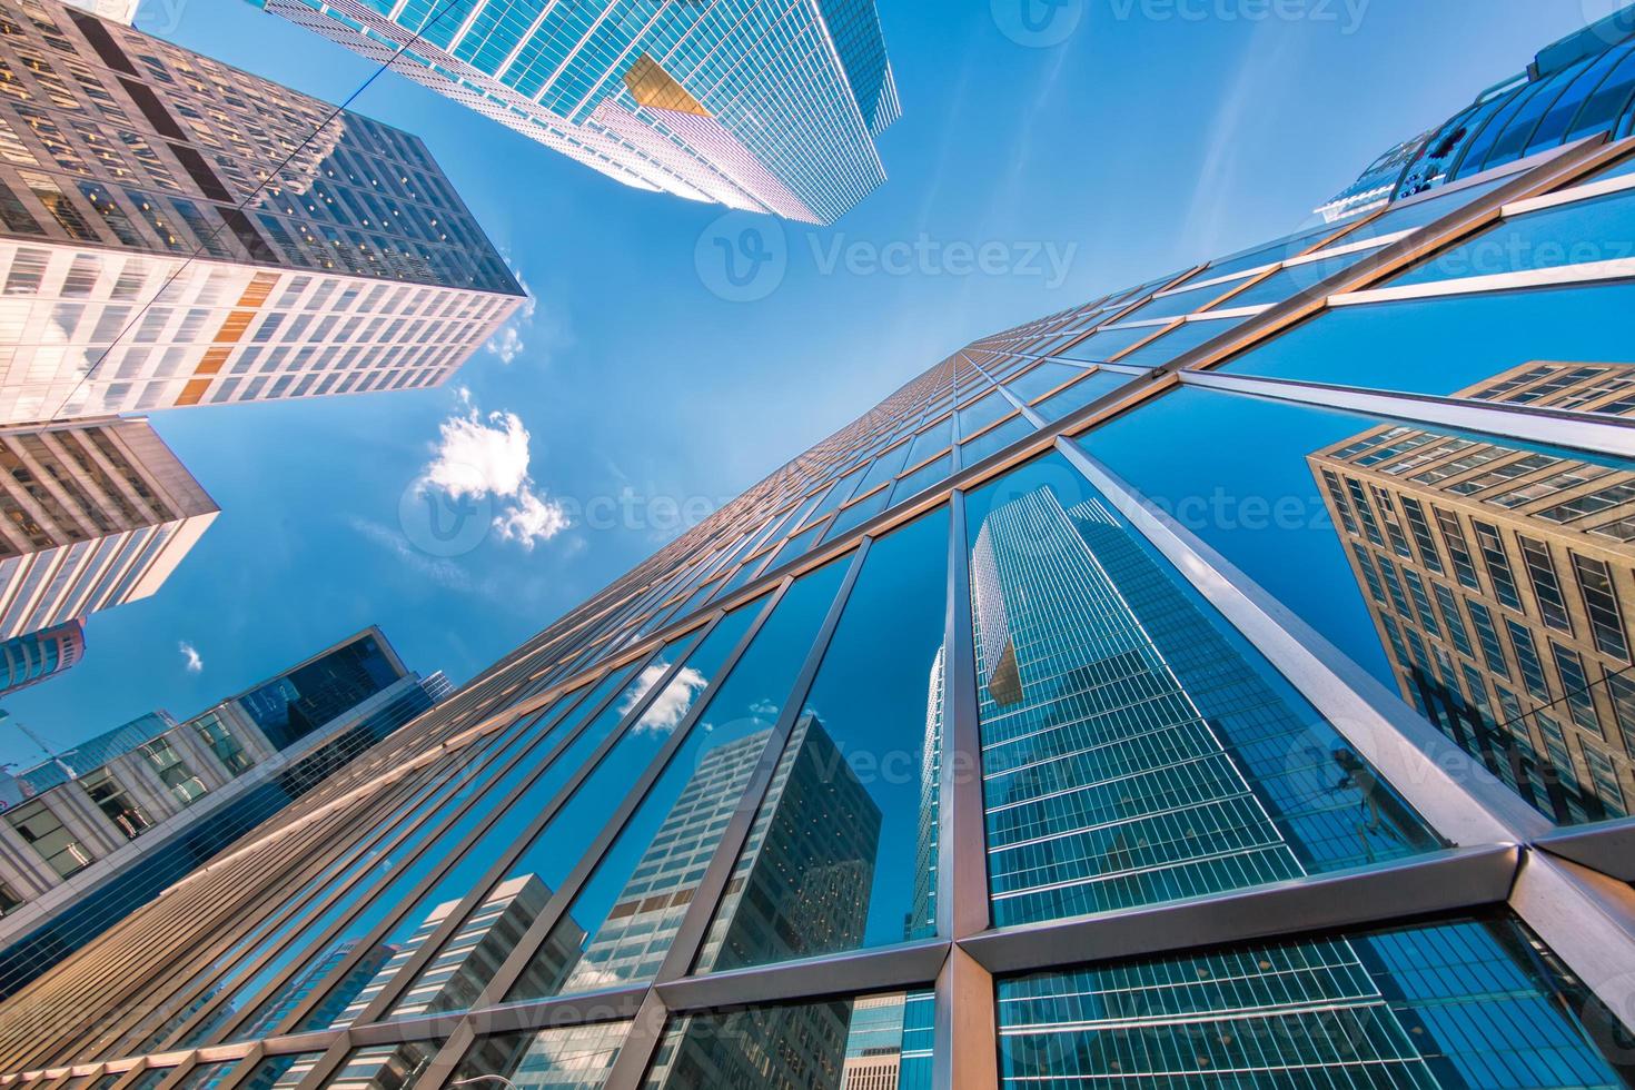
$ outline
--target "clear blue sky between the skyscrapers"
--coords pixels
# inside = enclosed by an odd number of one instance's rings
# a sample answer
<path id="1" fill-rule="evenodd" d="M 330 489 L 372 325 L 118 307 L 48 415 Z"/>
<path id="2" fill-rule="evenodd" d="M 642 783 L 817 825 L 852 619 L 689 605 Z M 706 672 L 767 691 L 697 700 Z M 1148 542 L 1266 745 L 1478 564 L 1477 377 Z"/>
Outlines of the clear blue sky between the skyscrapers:
<path id="1" fill-rule="evenodd" d="M 786 260 L 754 301 L 710 271 L 737 227 L 723 209 L 626 190 L 376 80 L 353 108 L 427 141 L 536 296 L 520 350 L 438 391 L 155 417 L 222 516 L 159 595 L 88 621 L 85 662 L 7 709 L 67 747 L 155 708 L 195 714 L 371 623 L 410 667 L 463 681 L 682 511 L 955 348 L 1287 232 L 1378 152 L 1619 7 L 1055 0 L 1061 21 L 1033 36 L 1019 5 L 1045 0 L 878 2 L 904 105 L 880 141 L 891 180 L 831 229 L 770 226 Z M 144 0 L 137 26 L 329 101 L 371 74 L 239 0 Z M 983 243 L 1006 258 L 968 268 L 960 247 Z M 489 453 L 510 469 L 526 433 L 526 487 L 566 529 L 419 547 L 415 482 L 440 428 L 471 413 L 486 430 L 456 435 L 508 428 Z M 0 762 L 39 757 L 0 730 Z"/>

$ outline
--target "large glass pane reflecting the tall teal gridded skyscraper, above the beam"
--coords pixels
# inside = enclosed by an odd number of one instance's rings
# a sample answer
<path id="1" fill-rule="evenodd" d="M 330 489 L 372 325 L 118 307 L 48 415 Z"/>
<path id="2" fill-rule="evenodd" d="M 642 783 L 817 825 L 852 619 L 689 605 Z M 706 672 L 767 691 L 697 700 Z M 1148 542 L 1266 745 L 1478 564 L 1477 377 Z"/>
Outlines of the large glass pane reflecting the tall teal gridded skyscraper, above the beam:
<path id="1" fill-rule="evenodd" d="M 996 925 L 1436 847 L 1059 454 L 973 492 L 966 533 Z"/>

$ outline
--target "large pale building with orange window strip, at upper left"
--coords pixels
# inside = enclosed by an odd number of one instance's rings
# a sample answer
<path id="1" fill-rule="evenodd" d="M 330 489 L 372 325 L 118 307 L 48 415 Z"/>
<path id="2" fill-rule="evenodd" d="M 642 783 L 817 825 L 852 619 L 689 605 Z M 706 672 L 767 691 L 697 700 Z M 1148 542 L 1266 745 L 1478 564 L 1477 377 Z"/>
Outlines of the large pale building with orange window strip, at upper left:
<path id="1" fill-rule="evenodd" d="M 437 386 L 522 304 L 419 139 L 57 0 L 5 16 L 0 422 Z"/>

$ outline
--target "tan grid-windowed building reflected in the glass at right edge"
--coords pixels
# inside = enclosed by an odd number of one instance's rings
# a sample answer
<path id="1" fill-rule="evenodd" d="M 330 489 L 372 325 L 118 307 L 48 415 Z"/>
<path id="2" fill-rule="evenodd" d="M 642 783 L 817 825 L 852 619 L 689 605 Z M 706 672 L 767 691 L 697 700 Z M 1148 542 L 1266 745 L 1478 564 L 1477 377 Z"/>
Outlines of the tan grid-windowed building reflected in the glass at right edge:
<path id="1" fill-rule="evenodd" d="M 1635 413 L 1635 364 L 1535 363 L 1458 397 Z M 1635 791 L 1635 472 L 1378 425 L 1308 459 L 1403 696 L 1543 814 Z"/>

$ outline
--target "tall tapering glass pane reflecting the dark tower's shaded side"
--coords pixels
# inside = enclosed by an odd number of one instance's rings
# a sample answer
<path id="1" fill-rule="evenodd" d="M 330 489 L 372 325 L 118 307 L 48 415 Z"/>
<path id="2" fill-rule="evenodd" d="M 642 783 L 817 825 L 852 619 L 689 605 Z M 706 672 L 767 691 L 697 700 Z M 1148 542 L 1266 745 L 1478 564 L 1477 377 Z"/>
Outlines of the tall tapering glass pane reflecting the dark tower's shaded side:
<path id="1" fill-rule="evenodd" d="M 948 510 L 870 547 L 695 971 L 937 931 Z"/>

